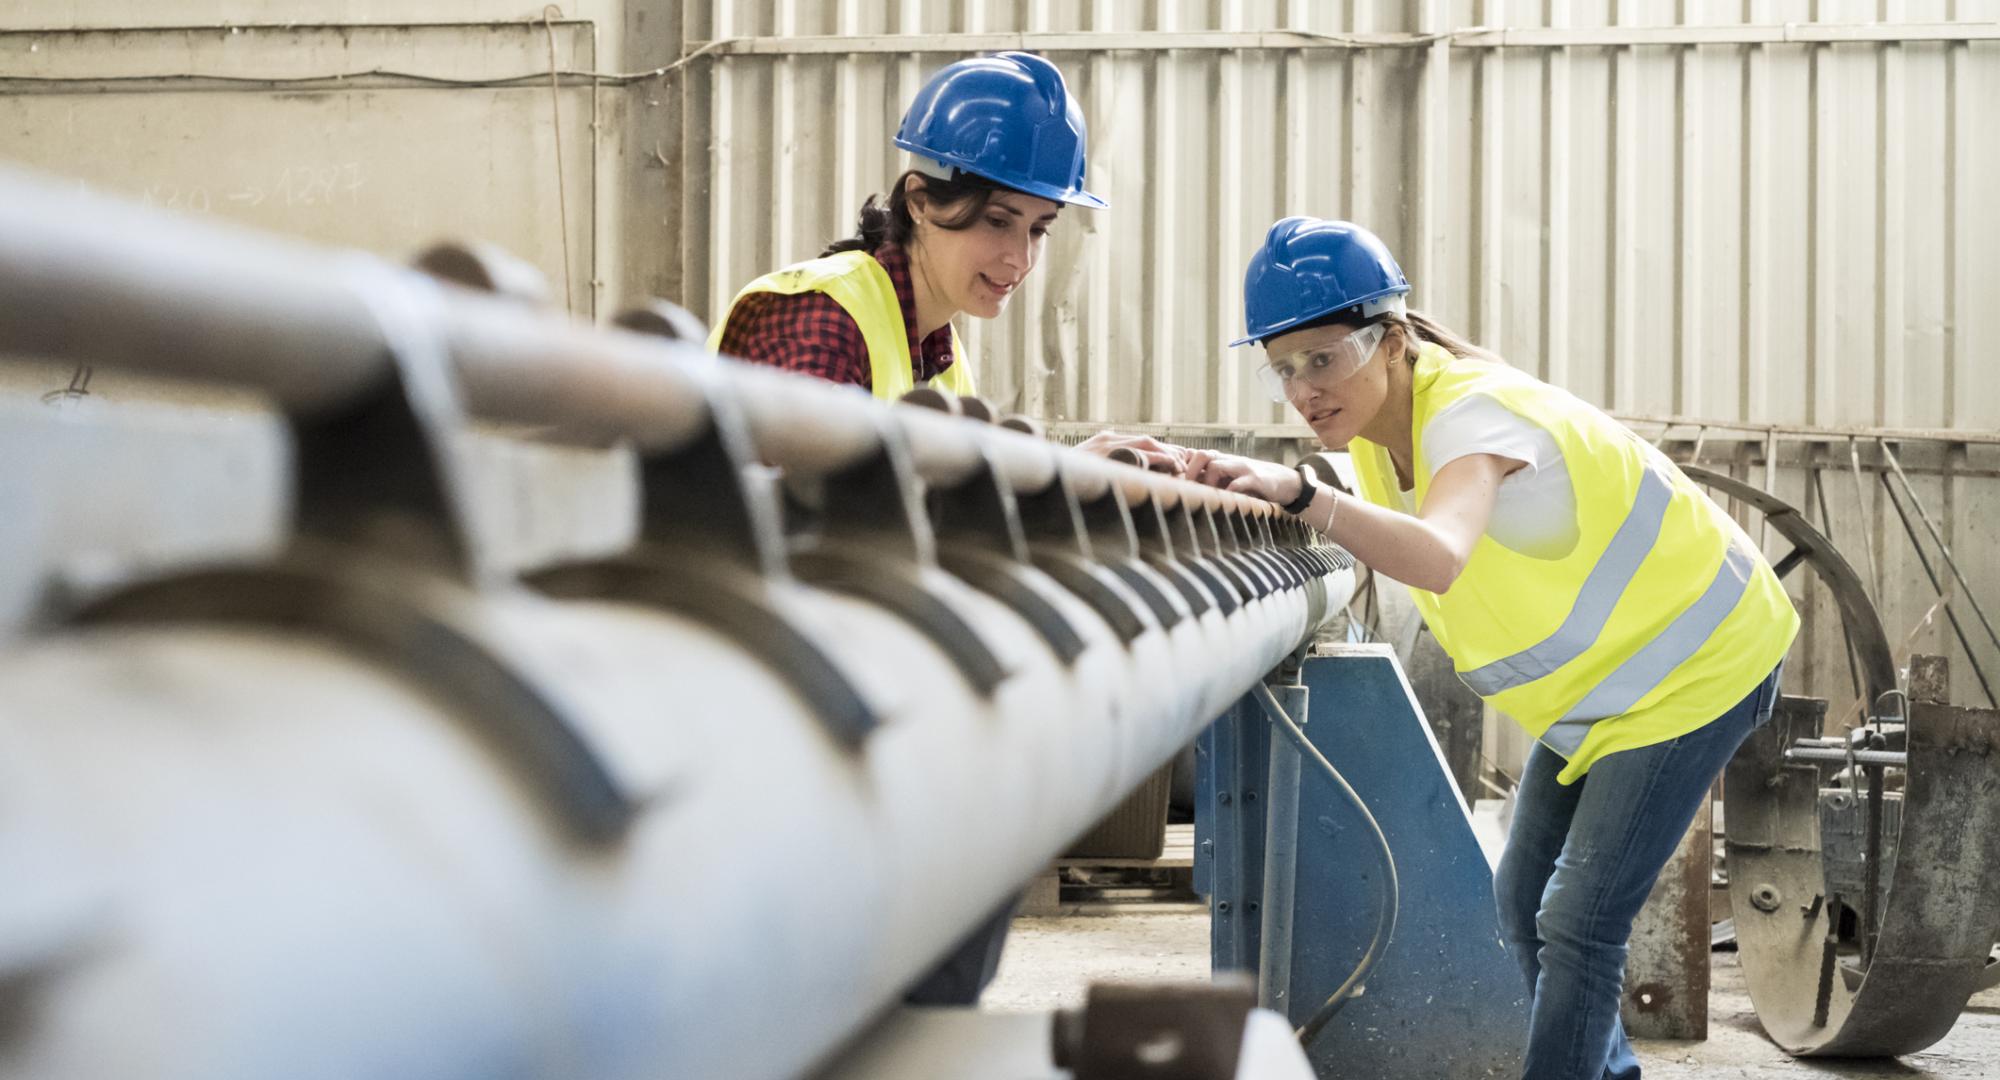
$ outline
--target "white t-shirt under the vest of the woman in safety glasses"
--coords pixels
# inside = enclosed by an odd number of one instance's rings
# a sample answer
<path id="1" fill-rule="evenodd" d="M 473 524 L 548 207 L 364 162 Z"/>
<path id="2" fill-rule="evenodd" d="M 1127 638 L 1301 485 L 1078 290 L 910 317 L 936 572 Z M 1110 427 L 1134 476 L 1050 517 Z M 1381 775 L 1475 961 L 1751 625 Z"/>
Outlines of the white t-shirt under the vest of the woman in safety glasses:
<path id="1" fill-rule="evenodd" d="M 1556 438 L 1486 394 L 1466 394 L 1424 424 L 1430 478 L 1466 454 L 1524 462 L 1500 480 L 1486 536 L 1530 558 L 1562 558 L 1576 548 L 1576 490 Z M 1398 492 L 1416 512 L 1416 492 Z"/>

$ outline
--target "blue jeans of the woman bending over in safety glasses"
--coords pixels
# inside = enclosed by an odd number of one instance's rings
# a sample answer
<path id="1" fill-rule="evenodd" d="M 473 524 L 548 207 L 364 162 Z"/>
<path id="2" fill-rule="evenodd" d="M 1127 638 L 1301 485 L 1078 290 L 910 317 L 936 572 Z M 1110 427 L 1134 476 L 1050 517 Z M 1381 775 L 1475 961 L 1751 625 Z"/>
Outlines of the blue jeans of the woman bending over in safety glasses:
<path id="1" fill-rule="evenodd" d="M 1672 742 L 1620 750 L 1572 786 L 1536 744 L 1494 874 L 1500 936 L 1528 976 L 1528 1080 L 1638 1080 L 1618 1020 L 1626 940 L 1722 766 L 1778 704 L 1778 672 Z"/>

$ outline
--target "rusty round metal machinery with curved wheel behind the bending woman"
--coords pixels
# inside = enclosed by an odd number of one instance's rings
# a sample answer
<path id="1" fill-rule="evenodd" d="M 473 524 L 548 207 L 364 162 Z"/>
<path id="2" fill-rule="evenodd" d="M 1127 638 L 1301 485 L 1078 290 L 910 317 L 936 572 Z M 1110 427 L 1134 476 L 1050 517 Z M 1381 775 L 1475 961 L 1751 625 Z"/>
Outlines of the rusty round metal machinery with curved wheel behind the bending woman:
<path id="1" fill-rule="evenodd" d="M 1946 664 L 1898 680 L 1854 566 L 1796 508 L 1720 472 L 1810 566 L 1846 630 L 1862 716 L 1782 698 L 1724 774 L 1730 910 L 1764 1030 L 1800 1056 L 1892 1056 L 1952 1030 L 1996 982 L 2000 712 L 1948 704 Z"/>

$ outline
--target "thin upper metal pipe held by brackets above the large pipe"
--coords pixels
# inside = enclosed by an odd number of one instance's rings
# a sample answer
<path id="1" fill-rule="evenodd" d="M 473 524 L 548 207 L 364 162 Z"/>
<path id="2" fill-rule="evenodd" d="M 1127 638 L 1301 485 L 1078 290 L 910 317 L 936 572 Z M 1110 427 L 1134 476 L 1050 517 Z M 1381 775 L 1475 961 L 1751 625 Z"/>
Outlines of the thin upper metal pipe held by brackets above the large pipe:
<path id="1" fill-rule="evenodd" d="M 706 380 L 732 388 L 772 464 L 838 468 L 880 438 L 874 402 L 812 378 L 712 366 L 682 342 L 592 330 L 360 254 L 178 220 L 8 170 L 0 238 L 0 352 L 16 356 L 242 384 L 310 414 L 388 378 L 390 348 L 406 344 L 400 324 L 424 318 L 450 352 L 468 412 L 542 440 L 684 444 L 706 430 Z M 940 426 L 930 414 L 902 424 L 956 432 L 922 440 L 916 460 L 926 470 L 960 468 L 964 452 L 952 446 L 976 444 L 1016 488 L 1038 490 L 1054 476 L 1056 448 L 1020 432 Z M 1132 472 L 1090 456 L 1066 462 L 1090 484 Z M 1180 486 L 1210 506 L 1272 516 L 1262 500 Z"/>

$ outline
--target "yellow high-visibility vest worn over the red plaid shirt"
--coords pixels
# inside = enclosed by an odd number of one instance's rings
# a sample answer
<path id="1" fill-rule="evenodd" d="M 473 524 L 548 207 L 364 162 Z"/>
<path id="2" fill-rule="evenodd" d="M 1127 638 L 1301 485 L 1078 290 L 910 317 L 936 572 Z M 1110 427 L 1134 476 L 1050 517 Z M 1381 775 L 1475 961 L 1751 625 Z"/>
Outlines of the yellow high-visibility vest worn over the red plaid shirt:
<path id="1" fill-rule="evenodd" d="M 730 300 L 730 312 L 752 292 L 780 292 L 796 296 L 800 292 L 824 292 L 832 296 L 840 310 L 862 328 L 868 342 L 868 382 L 876 398 L 894 402 L 916 388 L 916 364 L 910 356 L 910 334 L 902 322 L 902 300 L 896 298 L 896 282 L 888 280 L 888 270 L 868 252 L 838 252 L 810 258 L 784 270 L 772 270 L 746 284 Z M 730 324 L 724 312 L 708 334 L 708 352 L 722 348 L 722 330 Z M 958 328 L 952 328 L 952 366 L 938 372 L 926 386 L 952 394 L 972 394 L 972 364 L 958 342 Z"/>

